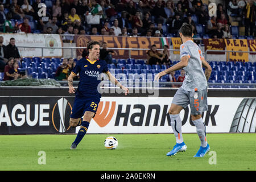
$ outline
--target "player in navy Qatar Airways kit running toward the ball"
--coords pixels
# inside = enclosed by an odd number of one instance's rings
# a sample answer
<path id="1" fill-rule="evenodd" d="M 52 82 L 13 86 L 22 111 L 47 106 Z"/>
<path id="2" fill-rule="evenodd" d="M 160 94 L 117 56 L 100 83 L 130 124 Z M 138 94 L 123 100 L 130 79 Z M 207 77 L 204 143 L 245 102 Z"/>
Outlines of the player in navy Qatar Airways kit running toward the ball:
<path id="1" fill-rule="evenodd" d="M 101 82 L 98 76 L 101 73 L 106 73 L 109 80 L 121 88 L 125 94 L 129 93 L 129 90 L 111 75 L 106 62 L 104 60 L 98 60 L 100 56 L 100 43 L 96 41 L 89 42 L 87 49 L 89 51 L 88 57 L 77 61 L 75 68 L 73 68 L 68 77 L 68 92 L 76 94 L 69 123 L 71 127 L 81 126 L 75 141 L 71 145 L 71 150 L 76 149 L 77 145 L 81 142 L 88 130 L 91 119 L 96 114 L 101 98 L 101 94 L 98 92 L 98 84 Z M 73 78 L 78 73 L 80 81 L 75 92 Z"/>

